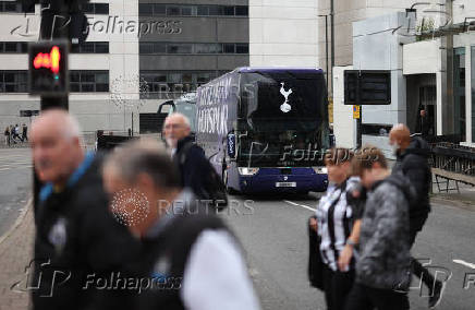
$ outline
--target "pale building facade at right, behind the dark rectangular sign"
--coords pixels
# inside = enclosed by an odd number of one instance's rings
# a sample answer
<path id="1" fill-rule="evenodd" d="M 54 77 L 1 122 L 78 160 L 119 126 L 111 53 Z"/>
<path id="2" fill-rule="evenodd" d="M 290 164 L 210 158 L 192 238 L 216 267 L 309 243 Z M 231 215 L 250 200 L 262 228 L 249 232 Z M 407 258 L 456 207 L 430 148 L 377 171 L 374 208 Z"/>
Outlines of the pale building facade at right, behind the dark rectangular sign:
<path id="1" fill-rule="evenodd" d="M 450 1 L 450 8 L 449 2 L 417 4 L 412 12 L 402 10 L 352 24 L 352 65 L 333 69 L 337 144 L 356 146 L 356 121 L 350 107 L 343 106 L 343 72 L 352 68 L 391 72 L 391 105 L 362 107 L 363 143 L 391 156 L 390 127 L 403 122 L 412 132 L 421 132 L 419 111 L 424 109 L 429 134 L 455 134 L 462 144 L 475 145 L 472 2 Z"/>

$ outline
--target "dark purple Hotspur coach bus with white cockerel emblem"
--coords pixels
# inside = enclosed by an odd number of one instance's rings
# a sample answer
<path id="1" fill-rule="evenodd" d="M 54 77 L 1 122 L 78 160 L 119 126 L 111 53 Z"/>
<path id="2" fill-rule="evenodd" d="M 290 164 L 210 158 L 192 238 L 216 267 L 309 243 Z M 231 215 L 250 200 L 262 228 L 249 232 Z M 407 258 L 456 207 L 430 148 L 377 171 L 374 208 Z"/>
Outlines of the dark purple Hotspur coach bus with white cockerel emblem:
<path id="1" fill-rule="evenodd" d="M 325 191 L 321 70 L 239 68 L 197 90 L 196 142 L 229 192 Z"/>

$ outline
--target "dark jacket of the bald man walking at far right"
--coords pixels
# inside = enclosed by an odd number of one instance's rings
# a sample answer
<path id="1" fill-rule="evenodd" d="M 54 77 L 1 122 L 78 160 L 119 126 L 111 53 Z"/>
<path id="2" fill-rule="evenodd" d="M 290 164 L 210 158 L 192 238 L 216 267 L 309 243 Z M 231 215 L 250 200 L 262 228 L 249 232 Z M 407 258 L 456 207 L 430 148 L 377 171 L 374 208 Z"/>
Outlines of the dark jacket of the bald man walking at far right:
<path id="1" fill-rule="evenodd" d="M 409 147 L 398 154 L 393 172 L 402 172 L 416 191 L 416 198 L 410 205 L 411 229 L 422 229 L 427 215 L 430 212 L 429 189 L 433 176 L 428 164 L 430 147 L 421 138 L 413 138 Z"/>

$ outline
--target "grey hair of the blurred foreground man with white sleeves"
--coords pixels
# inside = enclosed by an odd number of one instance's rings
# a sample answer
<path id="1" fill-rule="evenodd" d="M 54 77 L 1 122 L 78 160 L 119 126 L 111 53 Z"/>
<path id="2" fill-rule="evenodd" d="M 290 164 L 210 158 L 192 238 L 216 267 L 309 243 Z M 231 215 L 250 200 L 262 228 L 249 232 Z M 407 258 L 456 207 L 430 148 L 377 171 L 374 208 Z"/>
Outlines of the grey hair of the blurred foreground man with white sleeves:
<path id="1" fill-rule="evenodd" d="M 163 143 L 155 140 L 127 142 L 111 152 L 103 169 L 112 168 L 129 184 L 146 174 L 157 188 L 180 188 L 180 177 Z"/>

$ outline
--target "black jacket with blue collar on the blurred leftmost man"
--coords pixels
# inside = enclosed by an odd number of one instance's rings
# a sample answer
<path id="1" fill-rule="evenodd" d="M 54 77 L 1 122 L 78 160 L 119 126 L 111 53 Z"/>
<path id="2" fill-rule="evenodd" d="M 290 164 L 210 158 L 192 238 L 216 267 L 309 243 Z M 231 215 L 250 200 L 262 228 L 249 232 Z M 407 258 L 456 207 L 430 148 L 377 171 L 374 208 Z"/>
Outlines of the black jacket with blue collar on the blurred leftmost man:
<path id="1" fill-rule="evenodd" d="M 88 154 L 61 192 L 45 186 L 35 222 L 34 309 L 131 308 L 124 294 L 93 288 L 98 278 L 123 271 L 139 250 L 109 212 L 99 158 Z M 94 284 L 86 286 L 88 279 Z"/>

